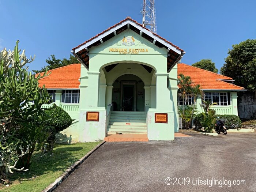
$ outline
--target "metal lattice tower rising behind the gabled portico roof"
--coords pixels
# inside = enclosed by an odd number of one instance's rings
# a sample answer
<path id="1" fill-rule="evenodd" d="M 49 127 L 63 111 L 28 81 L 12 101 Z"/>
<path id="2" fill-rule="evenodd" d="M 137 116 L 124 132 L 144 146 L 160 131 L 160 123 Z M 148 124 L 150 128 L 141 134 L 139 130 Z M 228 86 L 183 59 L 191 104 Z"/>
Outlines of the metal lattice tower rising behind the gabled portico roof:
<path id="1" fill-rule="evenodd" d="M 157 20 L 155 19 L 155 0 L 143 0 L 142 25 L 153 33 L 157 33 Z"/>

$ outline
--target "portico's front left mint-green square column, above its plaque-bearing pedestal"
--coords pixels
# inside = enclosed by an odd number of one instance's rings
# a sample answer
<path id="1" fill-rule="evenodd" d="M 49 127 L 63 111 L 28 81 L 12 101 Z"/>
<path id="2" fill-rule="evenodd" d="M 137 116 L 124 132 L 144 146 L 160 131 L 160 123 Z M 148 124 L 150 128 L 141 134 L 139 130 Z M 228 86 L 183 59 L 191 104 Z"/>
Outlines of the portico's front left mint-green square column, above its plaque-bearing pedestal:
<path id="1" fill-rule="evenodd" d="M 87 72 L 88 86 L 85 92 L 85 107 L 97 108 L 99 100 L 99 72 Z"/>

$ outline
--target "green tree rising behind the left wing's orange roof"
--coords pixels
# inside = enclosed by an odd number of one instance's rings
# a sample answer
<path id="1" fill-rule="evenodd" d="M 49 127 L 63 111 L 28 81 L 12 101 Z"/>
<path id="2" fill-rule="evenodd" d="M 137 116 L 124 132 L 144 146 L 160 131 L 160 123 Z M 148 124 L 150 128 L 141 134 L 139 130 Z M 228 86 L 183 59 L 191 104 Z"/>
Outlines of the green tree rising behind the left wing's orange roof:
<path id="1" fill-rule="evenodd" d="M 56 69 L 59 67 L 63 67 L 63 66 L 67 66 L 70 64 L 74 64 L 74 63 L 80 63 L 75 56 L 71 55 L 69 56 L 69 59 L 63 58 L 61 59 L 56 59 L 55 55 L 52 54 L 51 55 L 52 58 L 48 57 L 48 59 L 46 59 L 46 63 L 48 63 L 48 65 L 46 65 L 45 67 L 43 67 L 41 70 L 33 70 L 33 72 L 35 73 L 41 73 L 41 72 L 45 72 L 46 67 L 50 70 L 50 69 Z"/>

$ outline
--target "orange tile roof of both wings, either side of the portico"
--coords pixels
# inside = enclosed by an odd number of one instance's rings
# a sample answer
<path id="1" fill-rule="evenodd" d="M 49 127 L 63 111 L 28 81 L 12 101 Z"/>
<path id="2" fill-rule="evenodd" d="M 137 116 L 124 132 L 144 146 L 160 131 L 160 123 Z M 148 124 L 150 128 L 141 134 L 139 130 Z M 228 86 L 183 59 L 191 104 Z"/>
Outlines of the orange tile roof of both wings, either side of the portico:
<path id="1" fill-rule="evenodd" d="M 79 89 L 81 64 L 71 64 L 57 69 L 49 70 L 51 74 L 39 80 L 39 85 L 45 84 L 48 89 Z M 206 71 L 184 63 L 178 64 L 178 74 L 190 76 L 193 84 L 200 84 L 202 89 L 242 90 L 240 87 L 219 79 L 232 80 L 232 78 Z M 43 73 L 40 73 L 41 75 Z M 38 75 L 38 74 L 37 74 Z"/>

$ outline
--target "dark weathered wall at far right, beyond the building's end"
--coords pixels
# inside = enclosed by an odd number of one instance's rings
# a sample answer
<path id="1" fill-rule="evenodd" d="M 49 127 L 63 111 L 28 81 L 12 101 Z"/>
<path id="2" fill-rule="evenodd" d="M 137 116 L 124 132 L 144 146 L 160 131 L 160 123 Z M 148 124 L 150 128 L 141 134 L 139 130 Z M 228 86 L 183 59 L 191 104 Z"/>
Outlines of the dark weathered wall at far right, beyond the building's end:
<path id="1" fill-rule="evenodd" d="M 238 94 L 238 116 L 240 118 L 256 118 L 256 94 L 245 91 Z"/>

